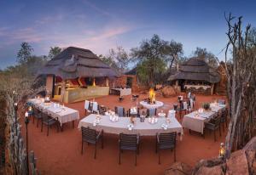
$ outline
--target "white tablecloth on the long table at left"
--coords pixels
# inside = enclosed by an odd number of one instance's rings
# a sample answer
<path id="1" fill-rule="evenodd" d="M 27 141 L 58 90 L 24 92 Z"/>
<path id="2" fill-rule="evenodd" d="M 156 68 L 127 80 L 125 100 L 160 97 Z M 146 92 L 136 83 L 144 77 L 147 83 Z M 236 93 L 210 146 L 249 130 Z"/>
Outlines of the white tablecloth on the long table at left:
<path id="1" fill-rule="evenodd" d="M 79 111 L 73 110 L 71 108 L 67 108 L 66 106 L 63 108 L 62 105 L 60 107 L 55 107 L 54 103 L 44 104 L 42 103 L 42 99 L 28 99 L 29 102 L 35 105 L 38 110 L 42 112 L 49 113 L 52 117 L 58 118 L 60 121 L 61 126 L 63 123 L 69 121 L 76 121 L 79 120 Z"/>

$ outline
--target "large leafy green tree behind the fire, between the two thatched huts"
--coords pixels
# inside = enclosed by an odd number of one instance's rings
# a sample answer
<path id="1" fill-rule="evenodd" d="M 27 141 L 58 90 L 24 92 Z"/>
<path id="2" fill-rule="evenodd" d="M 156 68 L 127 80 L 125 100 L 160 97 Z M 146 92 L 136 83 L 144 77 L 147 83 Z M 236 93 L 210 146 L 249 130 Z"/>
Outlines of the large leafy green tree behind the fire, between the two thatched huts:
<path id="1" fill-rule="evenodd" d="M 148 84 L 150 86 L 156 82 L 154 75 L 158 72 L 165 71 L 159 70 L 160 67 L 158 64 L 159 62 L 165 61 L 165 46 L 166 41 L 160 39 L 158 35 L 154 35 L 151 39 L 144 40 L 138 48 L 131 48 L 131 57 L 133 60 L 147 68 L 141 71 L 145 71 L 144 74 L 148 75 Z M 140 68 L 141 66 L 137 70 L 140 71 Z"/>

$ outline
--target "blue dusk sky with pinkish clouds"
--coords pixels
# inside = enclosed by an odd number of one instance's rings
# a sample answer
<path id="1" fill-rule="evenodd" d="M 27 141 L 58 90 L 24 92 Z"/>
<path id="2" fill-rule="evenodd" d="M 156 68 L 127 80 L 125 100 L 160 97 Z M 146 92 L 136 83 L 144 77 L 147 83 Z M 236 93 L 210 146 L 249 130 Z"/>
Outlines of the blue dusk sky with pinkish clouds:
<path id="1" fill-rule="evenodd" d="M 255 7 L 253 0 L 0 0 L 0 69 L 15 64 L 21 42 L 36 55 L 50 46 L 108 54 L 116 46 L 129 51 L 153 34 L 182 42 L 186 56 L 201 47 L 222 59 L 224 12 L 256 26 Z"/>

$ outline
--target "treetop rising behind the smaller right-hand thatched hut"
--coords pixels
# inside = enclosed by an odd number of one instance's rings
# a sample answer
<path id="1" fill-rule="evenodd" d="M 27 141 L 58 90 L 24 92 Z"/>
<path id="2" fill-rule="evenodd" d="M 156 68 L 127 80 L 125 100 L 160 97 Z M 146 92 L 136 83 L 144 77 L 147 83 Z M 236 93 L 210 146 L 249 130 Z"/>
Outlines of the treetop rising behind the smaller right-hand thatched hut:
<path id="1" fill-rule="evenodd" d="M 207 48 L 196 48 L 193 54 L 198 59 L 206 61 L 208 65 L 212 66 L 212 68 L 218 67 L 216 56 L 211 52 L 208 52 Z"/>

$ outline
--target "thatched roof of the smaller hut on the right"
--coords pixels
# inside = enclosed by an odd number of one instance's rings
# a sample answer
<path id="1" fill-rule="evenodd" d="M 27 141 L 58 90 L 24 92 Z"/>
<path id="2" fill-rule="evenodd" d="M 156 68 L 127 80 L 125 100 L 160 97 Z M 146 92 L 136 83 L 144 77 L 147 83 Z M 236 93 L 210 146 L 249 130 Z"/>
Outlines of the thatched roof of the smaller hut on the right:
<path id="1" fill-rule="evenodd" d="M 169 76 L 168 80 L 197 80 L 216 83 L 220 81 L 217 71 L 212 69 L 201 59 L 191 58 L 180 66 L 176 74 Z"/>

